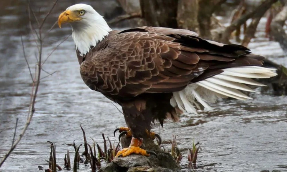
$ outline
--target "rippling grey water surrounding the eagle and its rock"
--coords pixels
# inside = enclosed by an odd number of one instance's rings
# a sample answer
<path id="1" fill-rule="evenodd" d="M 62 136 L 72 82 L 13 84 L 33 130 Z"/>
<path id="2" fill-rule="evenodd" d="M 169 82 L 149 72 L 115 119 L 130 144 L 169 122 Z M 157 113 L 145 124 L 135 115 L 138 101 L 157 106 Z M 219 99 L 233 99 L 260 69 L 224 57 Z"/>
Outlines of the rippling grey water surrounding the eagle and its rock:
<path id="1" fill-rule="evenodd" d="M 60 0 L 61 1 L 61 0 Z M 60 11 L 77 1 L 61 1 L 48 18 L 45 29 L 57 20 Z M 2 4 L 3 3 L 3 4 Z M 33 9 L 42 7 L 49 10 L 51 1 L 32 1 Z M 0 157 L 11 146 L 15 119 L 19 118 L 18 132 L 26 122 L 30 101 L 31 79 L 23 57 L 21 35 L 25 51 L 34 72 L 35 58 L 33 42 L 28 42 L 28 16 L 25 0 L 1 2 L 0 11 Z M 94 2 L 102 10 L 102 1 Z M 100 12 L 101 13 L 101 12 Z M 45 14 L 44 12 L 41 13 Z M 276 42 L 263 38 L 262 19 L 256 39 L 249 48 L 255 53 L 270 57 L 272 60 L 287 65 L 286 57 Z M 69 35 L 68 26 L 53 29 L 44 44 L 44 57 Z M 277 58 L 280 56 L 280 58 Z M 86 130 L 88 142 L 90 137 L 102 145 L 102 136 L 112 136 L 118 126 L 125 126 L 122 114 L 100 93 L 93 92 L 83 83 L 79 75 L 79 65 L 74 45 L 68 38 L 44 64 L 44 69 L 53 73 L 41 80 L 37 96 L 36 112 L 20 144 L 7 159 L 1 171 L 38 171 L 38 165 L 47 168 L 45 160 L 49 159 L 49 144 L 57 145 L 57 163 L 63 166 L 66 150 L 73 153 L 73 148 L 63 145 L 83 142 L 82 124 Z M 44 77 L 46 73 L 42 73 Z M 260 88 L 258 88 L 260 90 Z M 199 112 L 198 115 L 184 114 L 181 122 L 166 122 L 164 128 L 156 126 L 163 146 L 171 147 L 172 134 L 176 134 L 178 146 L 182 150 L 181 167 L 188 168 L 187 148 L 192 141 L 200 142 L 197 171 L 261 171 L 263 169 L 280 169 L 287 165 L 287 98 L 269 94 L 251 94 L 254 100 L 238 101 L 233 99 L 214 103 L 214 111 Z M 80 150 L 82 152 L 82 150 Z M 89 170 L 82 170 L 89 171 Z"/>

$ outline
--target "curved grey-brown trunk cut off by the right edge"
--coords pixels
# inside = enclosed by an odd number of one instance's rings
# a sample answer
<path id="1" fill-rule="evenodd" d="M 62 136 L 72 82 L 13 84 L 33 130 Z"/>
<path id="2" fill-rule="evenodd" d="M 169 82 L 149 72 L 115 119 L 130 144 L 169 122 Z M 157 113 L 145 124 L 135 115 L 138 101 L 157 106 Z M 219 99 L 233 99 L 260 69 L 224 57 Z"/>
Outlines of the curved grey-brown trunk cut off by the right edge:
<path id="1" fill-rule="evenodd" d="M 287 52 L 287 35 L 283 29 L 285 20 L 287 19 L 287 3 L 284 5 L 282 11 L 280 11 L 271 22 L 270 33 L 274 39 L 279 42 L 281 48 Z"/>

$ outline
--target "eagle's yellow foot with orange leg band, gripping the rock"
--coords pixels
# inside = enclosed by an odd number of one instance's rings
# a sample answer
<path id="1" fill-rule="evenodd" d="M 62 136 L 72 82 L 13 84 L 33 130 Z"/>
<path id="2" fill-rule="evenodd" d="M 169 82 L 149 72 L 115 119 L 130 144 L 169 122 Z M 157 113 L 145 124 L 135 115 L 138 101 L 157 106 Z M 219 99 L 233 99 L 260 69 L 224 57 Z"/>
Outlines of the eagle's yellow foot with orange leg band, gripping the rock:
<path id="1" fill-rule="evenodd" d="M 140 148 L 139 146 L 141 146 L 142 144 L 142 140 L 141 139 L 137 139 L 137 138 L 132 138 L 131 139 L 131 144 L 129 145 L 128 148 L 123 148 L 122 150 L 120 150 L 116 157 L 126 157 L 128 155 L 131 154 L 137 154 L 137 155 L 143 155 L 146 157 L 149 157 L 150 154 L 153 154 L 156 156 L 156 153 L 152 152 L 152 151 L 146 151 L 142 148 Z"/>

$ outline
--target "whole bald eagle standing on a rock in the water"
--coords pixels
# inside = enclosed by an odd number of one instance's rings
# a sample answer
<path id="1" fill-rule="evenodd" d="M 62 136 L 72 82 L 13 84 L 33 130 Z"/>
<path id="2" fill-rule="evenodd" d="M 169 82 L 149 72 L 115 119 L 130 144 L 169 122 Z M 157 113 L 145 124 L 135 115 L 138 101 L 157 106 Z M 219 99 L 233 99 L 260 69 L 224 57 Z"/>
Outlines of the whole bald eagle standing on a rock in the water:
<path id="1" fill-rule="evenodd" d="M 263 86 L 251 78 L 276 76 L 262 66 L 264 57 L 248 48 L 200 38 L 184 29 L 139 27 L 112 30 L 93 7 L 76 4 L 59 15 L 73 30 L 80 74 L 86 85 L 121 105 L 131 144 L 117 154 L 149 156 L 139 148 L 156 135 L 151 123 L 212 109 L 218 98 L 252 99 L 242 91 Z"/>

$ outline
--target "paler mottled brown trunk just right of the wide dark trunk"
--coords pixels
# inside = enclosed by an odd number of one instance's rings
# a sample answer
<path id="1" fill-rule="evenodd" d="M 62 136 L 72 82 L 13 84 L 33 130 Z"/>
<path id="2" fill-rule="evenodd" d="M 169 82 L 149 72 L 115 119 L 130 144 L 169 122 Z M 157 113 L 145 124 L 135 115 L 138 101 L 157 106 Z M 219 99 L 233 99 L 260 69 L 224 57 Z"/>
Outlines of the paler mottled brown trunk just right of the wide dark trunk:
<path id="1" fill-rule="evenodd" d="M 200 34 L 197 21 L 198 8 L 198 0 L 179 0 L 177 7 L 178 27 Z"/>

